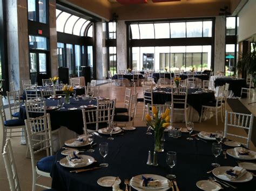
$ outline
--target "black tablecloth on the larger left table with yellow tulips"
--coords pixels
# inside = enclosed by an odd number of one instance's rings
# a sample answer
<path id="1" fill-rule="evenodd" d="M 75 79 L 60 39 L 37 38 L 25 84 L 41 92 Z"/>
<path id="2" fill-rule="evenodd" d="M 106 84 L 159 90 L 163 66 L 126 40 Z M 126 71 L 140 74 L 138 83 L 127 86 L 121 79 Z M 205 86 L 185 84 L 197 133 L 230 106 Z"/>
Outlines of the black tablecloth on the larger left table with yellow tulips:
<path id="1" fill-rule="evenodd" d="M 52 99 L 46 99 L 46 106 L 57 106 L 58 101 Z M 63 109 L 61 110 L 48 110 L 51 117 L 51 128 L 52 131 L 59 128 L 60 126 L 68 127 L 71 131 L 74 131 L 78 134 L 83 134 L 83 114 L 82 110 L 79 109 L 82 105 L 97 105 L 97 101 L 92 99 L 82 100 L 79 98 L 79 101 L 75 101 L 73 98 L 70 98 L 70 104 L 64 104 Z M 68 108 L 76 107 L 77 110 L 68 110 Z M 38 116 L 32 116 L 38 117 Z M 19 108 L 19 119 L 26 119 L 26 109 L 25 106 Z"/>

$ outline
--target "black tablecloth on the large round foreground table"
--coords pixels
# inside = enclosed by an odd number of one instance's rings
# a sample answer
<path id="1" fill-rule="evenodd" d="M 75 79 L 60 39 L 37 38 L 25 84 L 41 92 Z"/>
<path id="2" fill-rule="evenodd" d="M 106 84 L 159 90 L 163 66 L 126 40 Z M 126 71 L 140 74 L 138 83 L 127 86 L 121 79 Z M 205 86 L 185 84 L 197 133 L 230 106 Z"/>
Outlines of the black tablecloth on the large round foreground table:
<path id="1" fill-rule="evenodd" d="M 148 152 L 153 149 L 154 135 L 146 135 L 145 133 L 146 128 L 138 127 L 134 131 L 125 132 L 124 135 L 115 137 L 114 140 L 107 140 L 105 136 L 103 138 L 96 137 L 97 147 L 95 147 L 95 152 L 85 152 L 84 154 L 93 156 L 98 162 L 87 168 L 98 166 L 99 163 L 103 162 L 103 157 L 98 151 L 100 142 L 109 142 L 109 154 L 106 156 L 106 162 L 109 163 L 109 167 L 88 172 L 70 173 L 70 170 L 73 170 L 73 168 L 61 166 L 57 161 L 65 156 L 60 154 L 60 151 L 63 151 L 63 149 L 60 150 L 57 153 L 56 161 L 51 170 L 52 188 L 62 191 L 112 190 L 112 188 L 99 186 L 97 180 L 103 176 L 119 176 L 122 180 L 120 188 L 124 190 L 124 179 L 131 179 L 132 176 L 140 174 L 166 176 L 166 174 L 169 174 L 170 168 L 166 164 L 167 151 L 177 152 L 177 164 L 173 167 L 173 174 L 177 176 L 178 187 L 181 191 L 200 190 L 197 188 L 196 182 L 207 180 L 208 176 L 214 176 L 206 172 L 213 169 L 211 163 L 215 159 L 212 155 L 211 147 L 212 142 L 215 141 L 188 141 L 186 140 L 187 133 L 182 133 L 181 138 L 173 139 L 165 133 L 165 151 L 158 153 L 159 165 L 155 167 L 146 165 Z M 224 146 L 223 148 L 228 147 Z M 227 159 L 224 159 L 223 154 L 217 158 L 217 162 L 221 166 L 237 166 L 234 158 L 227 156 Z M 255 190 L 255 180 L 256 178 L 254 177 L 250 182 L 232 182 L 232 185 L 237 187 L 235 190 Z M 225 188 L 225 190 L 234 189 Z"/>

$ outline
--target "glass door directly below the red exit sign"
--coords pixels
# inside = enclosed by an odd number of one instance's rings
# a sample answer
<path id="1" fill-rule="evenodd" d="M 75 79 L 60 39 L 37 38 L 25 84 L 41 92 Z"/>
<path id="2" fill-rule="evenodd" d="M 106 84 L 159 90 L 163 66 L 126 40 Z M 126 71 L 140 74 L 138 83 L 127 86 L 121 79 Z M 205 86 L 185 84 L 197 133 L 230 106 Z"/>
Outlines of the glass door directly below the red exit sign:
<path id="1" fill-rule="evenodd" d="M 31 83 L 37 82 L 38 75 L 44 74 L 47 76 L 47 63 L 48 63 L 48 53 L 46 52 L 30 52 L 30 79 Z"/>

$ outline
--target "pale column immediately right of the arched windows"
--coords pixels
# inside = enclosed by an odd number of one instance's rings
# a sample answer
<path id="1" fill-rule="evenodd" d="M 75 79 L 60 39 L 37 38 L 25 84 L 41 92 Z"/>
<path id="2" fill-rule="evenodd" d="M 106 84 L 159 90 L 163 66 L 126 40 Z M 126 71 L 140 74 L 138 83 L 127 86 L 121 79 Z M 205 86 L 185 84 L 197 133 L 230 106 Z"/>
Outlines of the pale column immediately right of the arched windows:
<path id="1" fill-rule="evenodd" d="M 106 77 L 106 46 L 105 46 L 105 23 L 95 23 L 95 46 L 96 46 L 96 77 L 105 79 Z"/>

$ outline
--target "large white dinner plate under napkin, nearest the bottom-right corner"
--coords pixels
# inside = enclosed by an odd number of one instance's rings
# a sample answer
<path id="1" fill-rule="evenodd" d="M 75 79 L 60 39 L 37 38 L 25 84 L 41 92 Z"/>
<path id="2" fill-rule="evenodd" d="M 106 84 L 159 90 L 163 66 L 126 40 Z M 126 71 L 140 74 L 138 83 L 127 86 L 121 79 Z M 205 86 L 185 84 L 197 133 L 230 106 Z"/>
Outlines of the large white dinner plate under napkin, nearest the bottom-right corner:
<path id="1" fill-rule="evenodd" d="M 225 180 L 225 181 L 229 181 L 229 182 L 248 182 L 248 181 L 252 180 L 252 178 L 253 178 L 252 174 L 247 171 L 244 175 L 242 175 L 240 178 L 235 179 L 235 180 L 230 180 L 226 176 L 218 176 L 218 175 L 225 174 L 227 170 L 230 170 L 232 168 L 234 168 L 234 167 L 227 167 L 227 166 L 217 167 L 212 170 L 212 174 L 221 180 Z"/>

